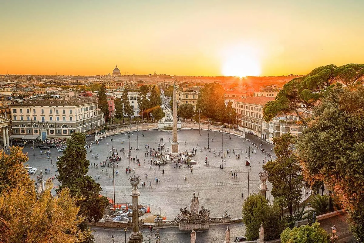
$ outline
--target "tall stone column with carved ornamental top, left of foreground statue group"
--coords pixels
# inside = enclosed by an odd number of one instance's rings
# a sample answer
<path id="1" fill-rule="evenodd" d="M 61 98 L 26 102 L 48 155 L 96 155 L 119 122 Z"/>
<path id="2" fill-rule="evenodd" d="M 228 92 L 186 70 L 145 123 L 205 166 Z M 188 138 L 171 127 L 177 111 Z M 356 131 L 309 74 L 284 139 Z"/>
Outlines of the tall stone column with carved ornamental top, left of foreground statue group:
<path id="1" fill-rule="evenodd" d="M 131 189 L 131 197 L 132 199 L 132 222 L 133 222 L 133 228 L 129 237 L 129 243 L 143 243 L 143 234 L 139 231 L 139 196 L 140 192 L 138 190 L 138 184 L 140 181 L 139 176 L 130 176 L 129 177 L 130 184 L 132 185 Z"/>

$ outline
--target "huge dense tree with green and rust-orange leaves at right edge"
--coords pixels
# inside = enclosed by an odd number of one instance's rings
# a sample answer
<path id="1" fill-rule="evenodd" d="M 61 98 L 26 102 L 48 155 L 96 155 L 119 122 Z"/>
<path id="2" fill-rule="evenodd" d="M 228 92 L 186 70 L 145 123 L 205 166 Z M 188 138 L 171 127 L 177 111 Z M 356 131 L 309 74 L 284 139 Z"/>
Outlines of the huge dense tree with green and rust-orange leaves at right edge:
<path id="1" fill-rule="evenodd" d="M 315 107 L 297 147 L 305 180 L 333 189 L 358 239 L 364 239 L 363 107 L 362 85 L 336 85 Z"/>

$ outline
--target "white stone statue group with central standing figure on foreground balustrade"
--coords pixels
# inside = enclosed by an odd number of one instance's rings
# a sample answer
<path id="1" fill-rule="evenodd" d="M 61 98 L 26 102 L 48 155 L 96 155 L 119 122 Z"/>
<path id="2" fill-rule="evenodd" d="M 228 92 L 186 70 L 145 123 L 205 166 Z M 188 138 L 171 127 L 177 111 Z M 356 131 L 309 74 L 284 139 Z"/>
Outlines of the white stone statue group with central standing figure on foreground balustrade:
<path id="1" fill-rule="evenodd" d="M 201 206 L 201 209 L 199 209 L 199 193 L 193 192 L 193 197 L 190 204 L 190 211 L 188 211 L 185 208 L 179 209 L 179 214 L 174 217 L 174 220 L 178 222 L 180 225 L 202 225 L 202 224 L 208 224 L 209 223 L 209 217 L 210 217 L 210 210 L 205 209 L 203 206 Z M 196 228 L 196 227 L 194 227 Z"/>

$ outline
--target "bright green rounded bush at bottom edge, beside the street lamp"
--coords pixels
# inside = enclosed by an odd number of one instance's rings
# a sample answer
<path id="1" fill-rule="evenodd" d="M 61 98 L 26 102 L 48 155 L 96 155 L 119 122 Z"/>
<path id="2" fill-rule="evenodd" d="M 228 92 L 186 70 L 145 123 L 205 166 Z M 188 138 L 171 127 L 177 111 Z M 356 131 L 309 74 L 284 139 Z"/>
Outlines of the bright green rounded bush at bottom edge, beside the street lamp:
<path id="1" fill-rule="evenodd" d="M 319 223 L 312 226 L 304 225 L 292 230 L 286 228 L 281 234 L 282 243 L 328 243 L 327 232 L 320 227 Z"/>

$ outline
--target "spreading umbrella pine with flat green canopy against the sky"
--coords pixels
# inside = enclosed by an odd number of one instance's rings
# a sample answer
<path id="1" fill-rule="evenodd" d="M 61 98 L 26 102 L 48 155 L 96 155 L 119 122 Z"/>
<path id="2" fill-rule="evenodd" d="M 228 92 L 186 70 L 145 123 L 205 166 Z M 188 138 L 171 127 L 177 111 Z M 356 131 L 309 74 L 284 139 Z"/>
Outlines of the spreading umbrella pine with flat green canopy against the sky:
<path id="1" fill-rule="evenodd" d="M 294 112 L 305 125 L 308 125 L 305 116 L 335 83 L 349 87 L 358 83 L 363 84 L 363 77 L 364 64 L 346 64 L 340 67 L 330 64 L 315 68 L 308 75 L 294 78 L 286 83 L 276 99 L 264 106 L 264 119 L 269 122 L 276 115 Z"/>

